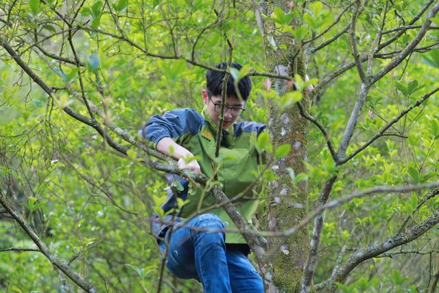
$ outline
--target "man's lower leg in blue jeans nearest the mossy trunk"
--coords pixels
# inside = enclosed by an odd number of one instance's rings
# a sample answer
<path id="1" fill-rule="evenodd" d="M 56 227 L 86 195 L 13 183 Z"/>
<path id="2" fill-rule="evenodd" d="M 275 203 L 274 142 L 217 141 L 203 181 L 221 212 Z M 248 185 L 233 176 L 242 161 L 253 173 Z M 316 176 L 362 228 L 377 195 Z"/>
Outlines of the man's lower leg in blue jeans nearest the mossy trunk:
<path id="1" fill-rule="evenodd" d="M 241 251 L 226 251 L 228 274 L 232 292 L 263 293 L 263 282 L 259 272 Z"/>

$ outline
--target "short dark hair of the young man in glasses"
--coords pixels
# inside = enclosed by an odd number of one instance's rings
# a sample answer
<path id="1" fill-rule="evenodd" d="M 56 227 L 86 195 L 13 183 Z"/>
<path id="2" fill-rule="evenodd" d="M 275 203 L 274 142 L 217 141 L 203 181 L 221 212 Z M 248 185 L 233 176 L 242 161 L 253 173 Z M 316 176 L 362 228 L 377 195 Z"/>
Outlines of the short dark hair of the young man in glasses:
<path id="1" fill-rule="evenodd" d="M 226 69 L 227 63 L 221 62 L 215 65 L 217 69 Z M 232 62 L 232 68 L 236 68 L 241 70 L 242 66 L 238 63 Z M 224 78 L 224 72 L 218 72 L 213 70 L 208 70 L 206 72 L 206 90 L 209 95 L 221 95 L 222 94 L 222 79 Z M 233 84 L 234 79 L 233 76 L 230 75 L 227 81 L 227 97 L 239 97 L 237 95 L 235 85 Z M 248 95 L 250 95 L 250 91 L 252 90 L 252 82 L 250 78 L 246 76 L 245 78 L 241 78 L 238 82 L 239 93 L 241 94 L 241 98 L 246 101 L 248 99 Z"/>

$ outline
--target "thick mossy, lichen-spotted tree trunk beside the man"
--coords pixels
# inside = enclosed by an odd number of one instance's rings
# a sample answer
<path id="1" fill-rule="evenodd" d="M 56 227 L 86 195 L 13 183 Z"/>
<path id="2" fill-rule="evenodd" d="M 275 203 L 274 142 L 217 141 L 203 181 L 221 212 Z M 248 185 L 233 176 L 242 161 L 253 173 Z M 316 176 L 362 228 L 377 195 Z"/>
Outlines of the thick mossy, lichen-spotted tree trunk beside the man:
<path id="1" fill-rule="evenodd" d="M 274 8 L 287 11 L 288 1 L 269 1 L 265 14 L 271 15 Z M 272 22 L 264 26 L 264 46 L 267 67 L 273 73 L 300 75 L 305 79 L 305 56 L 291 34 L 279 34 Z M 274 45 L 275 44 L 275 45 Z M 274 80 L 274 90 L 280 95 L 292 91 L 292 83 Z M 310 99 L 307 93 L 301 101 L 303 109 L 309 111 Z M 289 143 L 290 152 L 283 159 L 272 165 L 278 180 L 268 185 L 268 228 L 270 231 L 285 231 L 305 218 L 308 211 L 307 181 L 295 185 L 289 175 L 289 168 L 294 174 L 306 173 L 307 141 L 309 121 L 300 115 L 296 104 L 281 109 L 275 101 L 270 103 L 269 131 L 274 146 Z M 300 279 L 309 252 L 308 228 L 285 237 L 272 237 L 268 242 L 268 251 L 273 263 L 273 281 L 281 292 L 294 292 L 300 288 Z"/>

